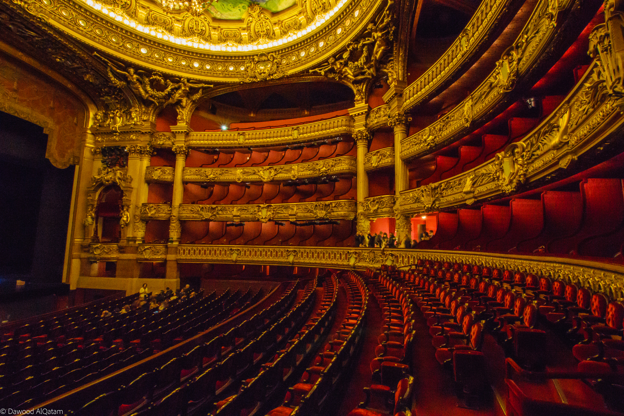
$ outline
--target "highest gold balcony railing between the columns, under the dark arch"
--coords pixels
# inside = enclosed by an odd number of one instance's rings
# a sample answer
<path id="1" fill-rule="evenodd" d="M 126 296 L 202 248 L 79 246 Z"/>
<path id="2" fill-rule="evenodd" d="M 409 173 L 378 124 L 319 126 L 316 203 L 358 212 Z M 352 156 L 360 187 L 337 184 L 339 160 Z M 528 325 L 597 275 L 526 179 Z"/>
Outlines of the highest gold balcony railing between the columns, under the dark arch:
<path id="1" fill-rule="evenodd" d="M 292 127 L 240 132 L 192 132 L 188 133 L 190 147 L 271 147 L 295 143 L 316 142 L 329 138 L 348 137 L 353 132 L 352 117 L 301 124 Z"/>

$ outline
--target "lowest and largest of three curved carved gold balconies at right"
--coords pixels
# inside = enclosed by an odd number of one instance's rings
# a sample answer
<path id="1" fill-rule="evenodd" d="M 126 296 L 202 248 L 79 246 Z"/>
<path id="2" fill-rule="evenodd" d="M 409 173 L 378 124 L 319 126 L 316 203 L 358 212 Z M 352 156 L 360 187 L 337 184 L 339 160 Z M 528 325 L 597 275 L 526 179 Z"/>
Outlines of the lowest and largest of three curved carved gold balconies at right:
<path id="1" fill-rule="evenodd" d="M 592 32 L 594 35 L 594 39 L 602 39 L 600 31 Z M 610 50 L 610 44 L 605 44 L 596 50 Z M 572 175 L 580 158 L 588 158 L 595 165 L 608 154 L 605 148 L 615 147 L 622 138 L 624 116 L 622 94 L 618 92 L 622 78 L 618 78 L 619 86 L 612 81 L 615 67 L 614 58 L 609 62 L 596 59 L 562 104 L 520 142 L 511 143 L 479 167 L 402 192 L 402 213 L 459 208 L 534 188 L 542 184 L 540 180 L 550 182 Z"/>

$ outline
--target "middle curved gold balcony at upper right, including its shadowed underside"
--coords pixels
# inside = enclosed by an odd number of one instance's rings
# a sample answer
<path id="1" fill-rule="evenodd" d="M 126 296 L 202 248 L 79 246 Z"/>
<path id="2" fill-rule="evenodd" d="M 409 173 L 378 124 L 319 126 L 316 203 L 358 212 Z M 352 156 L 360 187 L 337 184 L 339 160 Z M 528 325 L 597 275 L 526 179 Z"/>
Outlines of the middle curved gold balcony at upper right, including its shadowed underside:
<path id="1" fill-rule="evenodd" d="M 459 140 L 499 114 L 518 98 L 527 82 L 534 81 L 540 67 L 565 41 L 568 28 L 583 15 L 590 0 L 540 0 L 512 46 L 504 52 L 495 69 L 472 94 L 451 112 L 420 132 L 401 141 L 401 158 L 422 157 Z M 574 11 L 574 12 L 572 12 Z"/>

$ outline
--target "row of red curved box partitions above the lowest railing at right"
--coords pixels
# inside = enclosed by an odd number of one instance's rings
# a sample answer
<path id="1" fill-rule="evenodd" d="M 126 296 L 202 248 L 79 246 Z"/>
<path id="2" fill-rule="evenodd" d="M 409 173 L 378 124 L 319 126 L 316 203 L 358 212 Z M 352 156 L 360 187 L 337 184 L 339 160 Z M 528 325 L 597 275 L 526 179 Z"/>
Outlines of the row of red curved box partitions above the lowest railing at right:
<path id="1" fill-rule="evenodd" d="M 461 249 L 621 257 L 624 182 L 586 179 L 580 191 L 545 191 L 541 199 L 438 213 L 436 235 L 419 249 Z"/>

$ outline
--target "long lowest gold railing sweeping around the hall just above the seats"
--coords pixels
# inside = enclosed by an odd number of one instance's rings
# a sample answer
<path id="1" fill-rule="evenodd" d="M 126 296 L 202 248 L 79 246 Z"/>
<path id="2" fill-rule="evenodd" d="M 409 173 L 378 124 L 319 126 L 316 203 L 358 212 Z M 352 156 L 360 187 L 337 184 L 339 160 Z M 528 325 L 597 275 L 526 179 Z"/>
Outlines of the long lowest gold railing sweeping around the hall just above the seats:
<path id="1" fill-rule="evenodd" d="M 169 244 L 170 246 L 171 244 Z M 110 246 L 110 254 L 100 246 Z M 240 263 L 293 265 L 322 268 L 378 268 L 382 264 L 397 267 L 416 264 L 419 258 L 478 264 L 562 279 L 578 286 L 602 291 L 613 299 L 624 298 L 624 266 L 588 259 L 558 258 L 507 253 L 474 253 L 452 250 L 414 250 L 361 247 L 238 246 L 222 244 L 176 244 L 177 253 L 167 260 L 178 263 Z M 117 260 L 117 244 L 89 244 L 80 258 L 91 261 Z M 139 244 L 137 254 L 121 254 L 125 259 L 162 261 L 167 244 Z M 97 254 L 93 254 L 97 253 Z"/>

